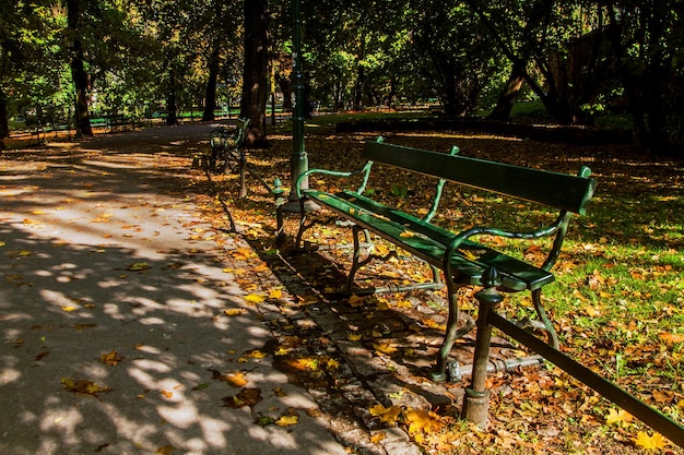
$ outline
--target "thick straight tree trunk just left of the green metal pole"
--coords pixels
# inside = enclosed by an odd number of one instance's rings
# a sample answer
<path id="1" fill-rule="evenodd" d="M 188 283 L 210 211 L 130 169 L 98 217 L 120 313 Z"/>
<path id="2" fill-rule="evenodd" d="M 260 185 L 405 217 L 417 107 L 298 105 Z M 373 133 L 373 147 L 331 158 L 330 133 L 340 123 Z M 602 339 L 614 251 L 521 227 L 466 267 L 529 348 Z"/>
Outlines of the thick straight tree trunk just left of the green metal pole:
<path id="1" fill-rule="evenodd" d="M 240 116 L 249 119 L 245 143 L 266 146 L 268 100 L 268 0 L 245 0 L 245 68 Z"/>

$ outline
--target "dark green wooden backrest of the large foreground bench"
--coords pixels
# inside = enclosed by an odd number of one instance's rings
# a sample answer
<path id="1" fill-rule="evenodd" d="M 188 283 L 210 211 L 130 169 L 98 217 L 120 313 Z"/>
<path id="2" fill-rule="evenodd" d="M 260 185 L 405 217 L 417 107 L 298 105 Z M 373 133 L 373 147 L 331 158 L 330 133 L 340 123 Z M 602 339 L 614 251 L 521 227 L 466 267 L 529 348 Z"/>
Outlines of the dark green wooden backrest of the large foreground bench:
<path id="1" fill-rule="evenodd" d="M 585 213 L 585 205 L 595 188 L 595 180 L 589 178 L 590 169 L 586 166 L 580 169 L 578 176 L 570 176 L 386 144 L 381 137 L 366 142 L 363 157 L 375 163 L 578 214 Z"/>

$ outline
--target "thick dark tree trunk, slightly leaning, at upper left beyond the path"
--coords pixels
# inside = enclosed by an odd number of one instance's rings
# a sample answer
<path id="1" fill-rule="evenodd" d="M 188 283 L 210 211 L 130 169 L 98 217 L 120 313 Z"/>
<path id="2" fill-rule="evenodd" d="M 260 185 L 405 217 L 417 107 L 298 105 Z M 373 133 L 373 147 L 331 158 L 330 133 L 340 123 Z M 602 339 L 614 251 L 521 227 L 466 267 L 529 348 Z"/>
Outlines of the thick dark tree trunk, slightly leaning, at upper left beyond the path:
<path id="1" fill-rule="evenodd" d="M 76 135 L 92 136 L 91 117 L 87 111 L 87 74 L 83 67 L 83 47 L 79 39 L 81 17 L 80 0 L 67 1 L 67 22 L 71 34 L 71 77 L 75 89 Z"/>

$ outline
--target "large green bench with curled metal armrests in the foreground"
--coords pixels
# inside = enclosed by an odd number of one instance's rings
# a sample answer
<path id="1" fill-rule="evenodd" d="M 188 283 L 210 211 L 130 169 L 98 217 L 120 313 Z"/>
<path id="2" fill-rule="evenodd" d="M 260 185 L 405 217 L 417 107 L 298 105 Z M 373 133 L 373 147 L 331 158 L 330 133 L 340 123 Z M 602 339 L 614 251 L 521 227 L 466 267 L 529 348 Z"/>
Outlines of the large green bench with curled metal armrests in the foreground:
<path id="1" fill-rule="evenodd" d="M 368 254 L 362 260 L 359 241 L 362 234 L 368 240 L 368 232 L 373 232 L 429 264 L 433 270 L 433 283 L 418 285 L 422 288 L 444 286 L 440 283 L 439 271 L 444 272 L 449 315 L 446 335 L 433 370 L 433 379 L 436 381 L 447 379 L 447 359 L 455 340 L 473 327 L 472 321 L 461 327 L 458 326 L 458 290 L 464 286 L 491 288 L 492 276 L 495 277 L 493 279 L 497 291 L 531 292 L 539 320 L 526 319 L 518 325 L 523 324 L 545 332 L 547 343 L 558 348 L 558 337 L 542 306 L 541 292 L 544 286 L 554 282 L 554 275 L 550 271 L 561 253 L 571 214 L 583 214 L 585 205 L 593 194 L 595 181 L 589 178 L 589 168 L 582 167 L 578 176 L 569 176 L 460 156 L 457 147 L 447 154 L 386 144 L 381 137 L 366 142 L 362 157 L 367 159 L 367 163 L 356 171 L 311 169 L 299 176 L 296 188 L 302 208 L 296 237 L 297 248 L 302 246 L 304 234 L 315 224 L 307 219 L 307 201 L 312 201 L 353 223 L 353 262 L 347 276 L 346 291 L 353 290 L 354 276 L 359 267 L 373 259 L 387 259 Z M 364 194 L 374 163 L 435 178 L 437 184 L 427 215 L 418 218 Z M 304 179 L 316 173 L 337 177 L 358 176 L 362 184 L 355 191 L 343 190 L 334 193 L 300 189 Z M 447 181 L 536 203 L 545 211 L 557 213 L 557 216 L 553 223 L 542 228 L 528 226 L 521 227 L 518 231 L 507 231 L 495 226 L 477 226 L 462 232 L 452 232 L 431 224 Z M 458 205 L 458 201 L 451 203 Z M 495 225 L 496 219 L 492 218 L 491 221 Z M 282 220 L 282 214 L 279 214 L 279 220 Z M 279 235 L 282 236 L 282 226 L 279 226 Z M 473 240 L 479 236 L 511 240 L 539 240 L 552 237 L 553 241 L 546 247 L 543 261 L 533 264 Z M 540 242 L 540 249 L 543 250 L 544 244 Z"/>

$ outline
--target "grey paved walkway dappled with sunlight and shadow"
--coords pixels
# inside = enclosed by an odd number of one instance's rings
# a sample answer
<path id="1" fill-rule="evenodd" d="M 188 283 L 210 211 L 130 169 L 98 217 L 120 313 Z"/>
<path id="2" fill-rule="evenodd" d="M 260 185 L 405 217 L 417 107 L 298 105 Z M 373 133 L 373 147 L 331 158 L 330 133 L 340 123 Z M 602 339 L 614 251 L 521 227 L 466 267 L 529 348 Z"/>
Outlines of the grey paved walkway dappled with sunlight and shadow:
<path id="1" fill-rule="evenodd" d="M 117 141 L 0 156 L 0 453 L 346 453 L 263 357 L 189 160 Z"/>

